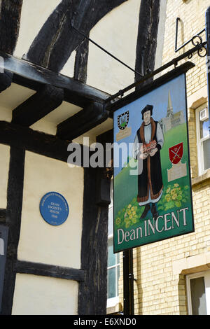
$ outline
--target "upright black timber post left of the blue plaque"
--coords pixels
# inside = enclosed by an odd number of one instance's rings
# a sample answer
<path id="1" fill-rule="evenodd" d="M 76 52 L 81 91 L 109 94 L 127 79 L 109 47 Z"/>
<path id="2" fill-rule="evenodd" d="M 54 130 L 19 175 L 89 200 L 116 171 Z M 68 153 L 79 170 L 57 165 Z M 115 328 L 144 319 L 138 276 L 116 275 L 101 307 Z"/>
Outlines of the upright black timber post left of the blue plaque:
<path id="1" fill-rule="evenodd" d="M 15 290 L 14 262 L 17 259 L 20 238 L 22 192 L 25 167 L 25 150 L 10 147 L 10 167 L 8 174 L 6 225 L 8 225 L 8 247 L 4 276 L 1 314 L 10 315 Z"/>

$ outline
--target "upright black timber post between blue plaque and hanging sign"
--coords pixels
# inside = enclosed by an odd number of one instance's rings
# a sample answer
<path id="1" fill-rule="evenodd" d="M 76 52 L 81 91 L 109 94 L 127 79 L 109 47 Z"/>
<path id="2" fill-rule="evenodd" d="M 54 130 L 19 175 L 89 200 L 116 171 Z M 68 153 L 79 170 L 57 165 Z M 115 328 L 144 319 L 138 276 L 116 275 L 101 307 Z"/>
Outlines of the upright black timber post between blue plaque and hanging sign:
<path id="1" fill-rule="evenodd" d="M 79 284 L 79 315 L 106 314 L 108 207 L 96 204 L 96 180 L 97 169 L 84 168 L 81 268 L 86 276 Z"/>

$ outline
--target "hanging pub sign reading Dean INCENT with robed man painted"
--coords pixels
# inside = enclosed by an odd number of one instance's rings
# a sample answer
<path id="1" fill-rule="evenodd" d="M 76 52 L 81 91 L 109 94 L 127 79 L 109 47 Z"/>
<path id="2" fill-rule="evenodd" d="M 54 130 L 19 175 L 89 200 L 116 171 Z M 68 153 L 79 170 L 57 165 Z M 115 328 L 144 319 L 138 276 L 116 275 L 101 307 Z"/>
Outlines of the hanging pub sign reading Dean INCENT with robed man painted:
<path id="1" fill-rule="evenodd" d="M 186 73 L 125 102 L 113 122 L 114 252 L 193 232 Z"/>

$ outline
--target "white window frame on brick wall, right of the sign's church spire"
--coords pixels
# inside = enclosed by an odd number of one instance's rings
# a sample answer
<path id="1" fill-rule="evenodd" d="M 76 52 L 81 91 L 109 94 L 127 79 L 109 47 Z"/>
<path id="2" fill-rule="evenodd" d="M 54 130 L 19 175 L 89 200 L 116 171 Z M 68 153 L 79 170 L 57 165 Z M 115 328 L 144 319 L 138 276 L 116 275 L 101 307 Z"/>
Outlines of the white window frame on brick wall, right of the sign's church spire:
<path id="1" fill-rule="evenodd" d="M 204 170 L 204 152 L 203 152 L 203 142 L 209 139 L 210 137 L 200 138 L 200 111 L 208 109 L 208 104 L 202 104 L 195 110 L 195 118 L 196 118 L 196 135 L 197 135 L 197 162 L 198 162 L 198 174 L 199 176 L 205 174 L 210 168 Z M 208 112 L 209 113 L 209 112 Z"/>

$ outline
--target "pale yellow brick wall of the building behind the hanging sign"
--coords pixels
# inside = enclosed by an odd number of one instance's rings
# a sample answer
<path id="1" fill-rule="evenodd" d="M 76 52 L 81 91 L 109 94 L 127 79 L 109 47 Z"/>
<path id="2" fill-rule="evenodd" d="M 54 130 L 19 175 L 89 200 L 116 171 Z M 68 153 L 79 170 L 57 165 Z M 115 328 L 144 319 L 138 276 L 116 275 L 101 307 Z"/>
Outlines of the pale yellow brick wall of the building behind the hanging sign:
<path id="1" fill-rule="evenodd" d="M 174 52 L 176 18 L 181 19 L 178 38 L 180 46 L 204 28 L 205 12 L 209 5 L 209 0 L 167 1 L 162 64 L 193 48 L 190 43 L 179 52 Z M 202 38 L 206 39 L 205 34 L 202 34 Z M 207 59 L 194 54 L 190 60 L 196 66 L 187 73 L 189 106 L 193 104 L 193 97 L 196 101 L 196 95 L 207 86 Z M 207 269 L 205 262 L 210 262 L 210 174 L 208 172 L 201 178 L 197 177 L 195 108 L 188 108 L 188 129 L 195 232 L 134 250 L 134 276 L 137 279 L 134 282 L 135 314 L 188 314 L 185 274 Z M 120 274 L 119 292 L 123 304 L 123 272 Z"/>

